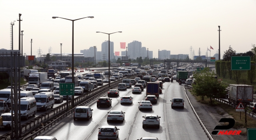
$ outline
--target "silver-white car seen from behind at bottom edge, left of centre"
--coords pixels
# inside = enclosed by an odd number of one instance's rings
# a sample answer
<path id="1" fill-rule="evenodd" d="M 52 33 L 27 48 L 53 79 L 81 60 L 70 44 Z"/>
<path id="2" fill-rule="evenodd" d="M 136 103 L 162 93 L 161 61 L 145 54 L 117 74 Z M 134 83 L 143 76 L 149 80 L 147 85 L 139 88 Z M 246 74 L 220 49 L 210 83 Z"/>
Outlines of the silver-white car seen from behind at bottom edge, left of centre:
<path id="1" fill-rule="evenodd" d="M 117 140 L 118 138 L 118 130 L 116 126 L 101 126 L 98 132 L 98 140 L 100 139 L 114 139 Z"/>

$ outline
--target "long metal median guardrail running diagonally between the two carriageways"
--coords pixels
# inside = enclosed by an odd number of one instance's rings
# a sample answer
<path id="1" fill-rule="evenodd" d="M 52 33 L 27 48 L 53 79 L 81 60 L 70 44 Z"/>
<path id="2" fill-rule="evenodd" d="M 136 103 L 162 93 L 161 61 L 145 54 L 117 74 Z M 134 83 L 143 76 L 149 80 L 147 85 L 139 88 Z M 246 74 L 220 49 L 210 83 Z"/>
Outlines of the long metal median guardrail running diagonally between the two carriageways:
<path id="1" fill-rule="evenodd" d="M 128 76 L 126 78 L 134 78 L 134 77 L 136 76 Z M 96 88 L 91 92 L 87 92 L 84 95 L 76 97 L 74 99 L 74 106 L 79 106 L 81 103 L 86 103 L 91 101 L 92 99 L 100 96 L 101 94 L 106 93 L 109 89 L 115 88 L 120 82 L 122 82 L 122 79 L 111 82 L 110 88 L 108 88 L 108 84 L 107 84 L 99 88 Z M 71 100 L 68 102 L 69 104 L 68 106 L 70 106 L 71 102 L 72 102 Z M 72 109 L 70 109 L 68 112 L 70 113 L 71 111 L 73 111 Z M 67 114 L 68 112 L 66 112 L 66 104 L 62 104 L 34 118 L 33 120 L 21 125 L 22 137 L 25 137 L 28 134 L 35 134 L 35 135 L 38 134 L 38 132 L 40 132 L 42 128 L 45 129 L 46 126 L 48 128 L 49 126 L 48 124 L 50 124 L 50 122 L 55 122 L 56 120 L 59 120 L 64 116 L 64 114 Z M 10 135 L 11 135 L 11 132 L 8 132 L 0 136 L 0 140 L 6 140 L 8 137 L 10 137 Z"/>

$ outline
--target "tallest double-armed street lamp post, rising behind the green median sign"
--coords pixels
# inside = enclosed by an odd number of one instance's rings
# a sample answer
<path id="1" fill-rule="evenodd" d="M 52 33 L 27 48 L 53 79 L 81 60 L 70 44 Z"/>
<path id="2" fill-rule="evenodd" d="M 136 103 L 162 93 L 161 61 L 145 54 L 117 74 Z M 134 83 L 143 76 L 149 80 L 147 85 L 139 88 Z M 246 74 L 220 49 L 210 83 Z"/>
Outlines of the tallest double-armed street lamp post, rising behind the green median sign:
<path id="1" fill-rule="evenodd" d="M 61 18 L 61 17 L 53 16 L 52 18 Z M 94 16 L 87 16 L 85 18 L 94 18 Z M 62 19 L 70 20 L 67 18 L 62 18 Z M 80 20 L 80 19 L 83 19 L 83 18 L 78 18 L 76 20 Z M 70 20 L 72 21 L 72 83 L 74 83 L 74 21 L 76 20 Z M 72 107 L 74 107 L 74 95 L 72 95 Z M 67 97 L 67 110 L 68 110 L 68 97 Z"/>

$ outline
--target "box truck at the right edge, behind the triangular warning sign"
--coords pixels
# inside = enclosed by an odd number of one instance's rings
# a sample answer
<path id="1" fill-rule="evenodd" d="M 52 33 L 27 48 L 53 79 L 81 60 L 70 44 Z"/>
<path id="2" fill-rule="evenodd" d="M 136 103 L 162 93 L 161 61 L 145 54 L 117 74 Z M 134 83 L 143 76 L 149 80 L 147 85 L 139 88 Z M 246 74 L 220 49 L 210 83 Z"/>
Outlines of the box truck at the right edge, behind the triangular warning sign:
<path id="1" fill-rule="evenodd" d="M 234 104 L 239 102 L 252 102 L 253 86 L 246 84 L 230 84 L 228 101 Z"/>

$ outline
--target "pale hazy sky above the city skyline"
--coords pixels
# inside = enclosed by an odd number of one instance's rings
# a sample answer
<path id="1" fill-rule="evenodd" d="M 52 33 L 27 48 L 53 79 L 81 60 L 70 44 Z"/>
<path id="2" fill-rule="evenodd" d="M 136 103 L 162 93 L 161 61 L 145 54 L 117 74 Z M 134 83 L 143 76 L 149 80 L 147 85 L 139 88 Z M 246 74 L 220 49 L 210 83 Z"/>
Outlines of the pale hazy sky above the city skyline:
<path id="1" fill-rule="evenodd" d="M 97 46 L 110 35 L 114 51 L 120 42 L 142 42 L 142 47 L 170 50 L 171 54 L 189 54 L 190 46 L 204 55 L 212 46 L 211 56 L 218 50 L 218 26 L 221 56 L 228 46 L 236 52 L 250 50 L 256 44 L 255 0 L 0 0 L 0 48 L 10 50 L 10 23 L 22 14 L 24 30 L 23 53 L 38 56 L 38 49 L 47 54 L 72 52 L 72 21 L 74 22 L 74 52 Z M 18 50 L 18 21 L 14 22 L 14 50 Z M 120 53 L 121 54 L 121 53 Z"/>

